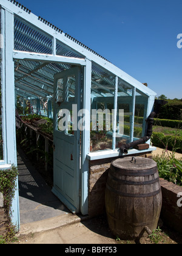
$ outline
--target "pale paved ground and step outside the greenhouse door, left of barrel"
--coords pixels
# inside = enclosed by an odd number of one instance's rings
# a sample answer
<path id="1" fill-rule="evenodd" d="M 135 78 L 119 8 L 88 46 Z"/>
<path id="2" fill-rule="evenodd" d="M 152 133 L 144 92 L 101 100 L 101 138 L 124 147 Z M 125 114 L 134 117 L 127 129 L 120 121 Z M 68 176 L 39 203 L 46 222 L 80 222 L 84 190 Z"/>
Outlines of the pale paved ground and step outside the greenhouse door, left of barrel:
<path id="1" fill-rule="evenodd" d="M 35 222 L 34 225 L 22 225 L 18 243 L 116 244 L 116 237 L 109 230 L 106 216 L 87 219 L 87 217 L 79 218 L 77 215 L 64 215 Z"/>

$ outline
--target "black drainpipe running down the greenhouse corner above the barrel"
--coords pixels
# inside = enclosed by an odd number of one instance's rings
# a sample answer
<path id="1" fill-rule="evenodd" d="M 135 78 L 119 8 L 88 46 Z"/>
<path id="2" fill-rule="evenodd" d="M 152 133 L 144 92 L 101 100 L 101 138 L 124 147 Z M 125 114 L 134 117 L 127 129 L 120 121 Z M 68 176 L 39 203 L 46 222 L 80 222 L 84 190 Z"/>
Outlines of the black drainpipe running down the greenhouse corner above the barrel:
<path id="1" fill-rule="evenodd" d="M 128 144 L 123 144 L 120 148 L 120 151 L 122 154 L 127 155 L 128 154 L 128 150 L 130 148 L 134 148 L 135 146 L 139 145 L 139 144 L 144 144 L 146 143 L 148 140 L 150 140 L 150 138 L 152 137 L 152 128 L 153 128 L 153 123 L 154 123 L 154 119 L 155 116 L 160 112 L 160 107 L 161 105 L 165 105 L 167 102 L 166 101 L 158 101 L 155 100 L 155 112 L 152 112 L 149 117 L 146 119 L 146 124 L 147 124 L 147 130 L 146 130 L 146 135 L 141 138 L 140 140 L 136 140 L 133 141 L 131 143 Z"/>

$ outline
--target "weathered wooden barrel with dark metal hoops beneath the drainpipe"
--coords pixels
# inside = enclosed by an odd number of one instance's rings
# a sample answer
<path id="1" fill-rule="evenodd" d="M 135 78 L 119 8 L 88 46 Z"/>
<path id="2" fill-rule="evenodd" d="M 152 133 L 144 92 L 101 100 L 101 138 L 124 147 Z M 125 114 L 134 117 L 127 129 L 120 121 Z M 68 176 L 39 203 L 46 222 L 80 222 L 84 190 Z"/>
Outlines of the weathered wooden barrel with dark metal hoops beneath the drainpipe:
<path id="1" fill-rule="evenodd" d="M 157 163 L 126 157 L 111 163 L 106 185 L 106 213 L 110 230 L 122 240 L 157 229 L 162 194 Z"/>

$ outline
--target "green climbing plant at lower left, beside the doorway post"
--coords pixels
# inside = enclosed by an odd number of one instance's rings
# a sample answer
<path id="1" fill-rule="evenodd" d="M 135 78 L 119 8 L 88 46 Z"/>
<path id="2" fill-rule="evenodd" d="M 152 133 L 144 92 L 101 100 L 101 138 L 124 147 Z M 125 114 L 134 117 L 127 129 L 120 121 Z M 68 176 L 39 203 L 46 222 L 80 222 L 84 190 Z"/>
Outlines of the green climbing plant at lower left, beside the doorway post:
<path id="1" fill-rule="evenodd" d="M 18 169 L 16 166 L 0 171 L 0 192 L 4 196 L 4 212 L 7 219 L 6 232 L 4 237 L 1 238 L 1 242 L 9 242 L 15 238 L 16 227 L 12 224 L 12 199 L 15 197 L 17 176 Z"/>

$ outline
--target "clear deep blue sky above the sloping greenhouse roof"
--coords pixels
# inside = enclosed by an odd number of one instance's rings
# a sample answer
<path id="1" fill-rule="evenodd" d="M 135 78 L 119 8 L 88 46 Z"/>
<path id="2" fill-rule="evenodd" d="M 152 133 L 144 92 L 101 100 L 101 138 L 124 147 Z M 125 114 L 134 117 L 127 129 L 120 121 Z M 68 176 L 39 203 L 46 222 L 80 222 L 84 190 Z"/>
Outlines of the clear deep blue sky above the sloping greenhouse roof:
<path id="1" fill-rule="evenodd" d="M 158 96 L 182 98 L 181 0 L 19 0 Z"/>

